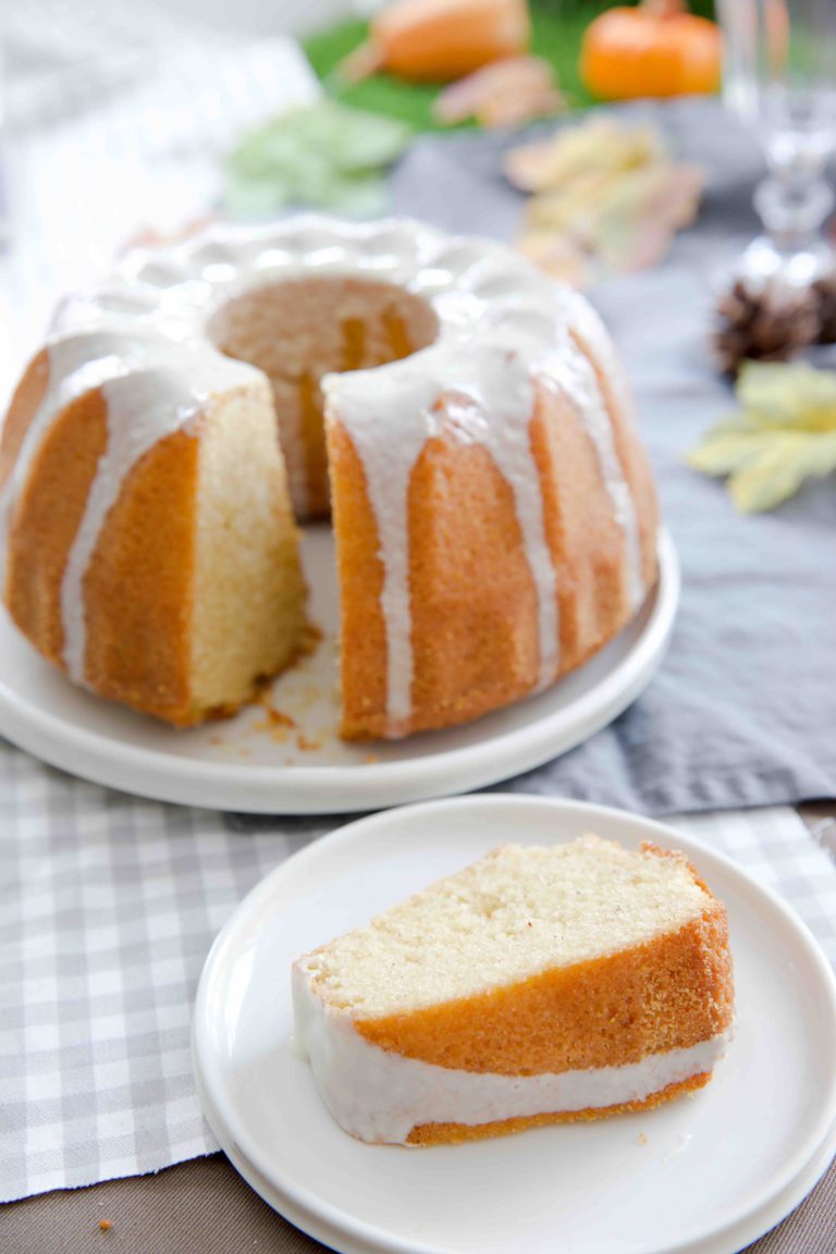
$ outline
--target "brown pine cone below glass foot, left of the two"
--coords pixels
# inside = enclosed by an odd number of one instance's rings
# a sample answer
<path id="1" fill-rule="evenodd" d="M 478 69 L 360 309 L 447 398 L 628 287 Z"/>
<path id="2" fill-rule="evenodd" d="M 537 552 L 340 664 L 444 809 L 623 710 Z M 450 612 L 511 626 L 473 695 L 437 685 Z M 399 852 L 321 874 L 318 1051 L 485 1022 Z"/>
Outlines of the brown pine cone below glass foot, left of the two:
<path id="1" fill-rule="evenodd" d="M 717 306 L 712 350 L 722 372 L 736 377 L 743 361 L 787 361 L 816 342 L 818 327 L 820 297 L 811 288 L 752 288 L 738 278 Z"/>

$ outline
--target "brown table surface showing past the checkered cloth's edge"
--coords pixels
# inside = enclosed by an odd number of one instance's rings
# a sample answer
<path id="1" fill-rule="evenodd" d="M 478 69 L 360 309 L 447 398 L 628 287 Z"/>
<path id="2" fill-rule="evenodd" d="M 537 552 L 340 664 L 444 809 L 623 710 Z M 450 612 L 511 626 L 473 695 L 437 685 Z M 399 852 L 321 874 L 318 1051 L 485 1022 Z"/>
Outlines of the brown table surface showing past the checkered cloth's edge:
<path id="1" fill-rule="evenodd" d="M 836 803 L 805 805 L 800 813 L 815 829 L 823 830 L 832 820 L 836 833 Z M 826 835 L 832 836 L 831 830 Z M 836 851 L 835 840 L 827 844 Z M 322 1249 L 272 1211 L 223 1154 L 157 1175 L 58 1190 L 0 1208 L 0 1254 L 315 1254 Z M 748 1254 L 835 1251 L 836 1161 L 792 1215 L 748 1246 Z"/>

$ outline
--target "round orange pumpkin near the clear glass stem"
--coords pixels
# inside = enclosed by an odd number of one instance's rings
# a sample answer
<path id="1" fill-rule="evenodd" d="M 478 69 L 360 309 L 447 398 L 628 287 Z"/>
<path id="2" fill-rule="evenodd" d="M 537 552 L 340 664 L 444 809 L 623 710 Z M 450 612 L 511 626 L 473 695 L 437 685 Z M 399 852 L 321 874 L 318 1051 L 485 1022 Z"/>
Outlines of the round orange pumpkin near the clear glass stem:
<path id="1" fill-rule="evenodd" d="M 687 95 L 719 87 L 719 30 L 683 0 L 608 9 L 587 29 L 580 74 L 602 100 Z"/>

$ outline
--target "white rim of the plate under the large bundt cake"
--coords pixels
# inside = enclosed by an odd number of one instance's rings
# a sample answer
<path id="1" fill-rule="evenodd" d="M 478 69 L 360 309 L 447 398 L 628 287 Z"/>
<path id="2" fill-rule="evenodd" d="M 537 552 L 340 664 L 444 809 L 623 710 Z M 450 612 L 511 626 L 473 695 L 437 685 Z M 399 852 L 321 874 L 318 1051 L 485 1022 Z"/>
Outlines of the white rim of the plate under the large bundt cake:
<path id="1" fill-rule="evenodd" d="M 559 682 L 538 697 L 508 707 L 519 716 L 515 726 L 504 730 L 496 727 L 506 711 L 496 711 L 464 729 L 424 734 L 421 750 L 410 747 L 416 740 L 411 737 L 397 742 L 397 757 L 350 765 L 252 765 L 188 756 L 187 737 L 192 732 L 162 725 L 154 725 L 150 732 L 159 747 L 149 749 L 140 742 L 138 729 L 142 726 L 142 735 L 148 737 L 150 720 L 73 690 L 19 637 L 4 612 L 0 658 L 9 652 L 1 647 L 3 641 L 25 646 L 26 653 L 20 655 L 24 666 L 6 661 L 5 675 L 0 661 L 0 735 L 50 766 L 94 784 L 213 810 L 357 813 L 485 788 L 574 749 L 618 717 L 651 681 L 667 651 L 681 592 L 677 552 L 664 528 L 659 530 L 658 553 L 659 579 L 639 612 L 640 626 L 628 624 L 587 663 L 594 666 L 598 658 L 607 657 L 604 672 L 588 683 L 583 682 L 584 672 L 592 673 L 587 667 L 567 676 L 567 681 L 578 677 L 582 682 L 580 691 L 565 703 L 560 703 Z M 85 709 L 94 715 L 86 725 Z M 451 745 L 459 731 L 466 731 L 471 742 Z M 431 741 L 437 741 L 437 747 L 427 752 Z"/>

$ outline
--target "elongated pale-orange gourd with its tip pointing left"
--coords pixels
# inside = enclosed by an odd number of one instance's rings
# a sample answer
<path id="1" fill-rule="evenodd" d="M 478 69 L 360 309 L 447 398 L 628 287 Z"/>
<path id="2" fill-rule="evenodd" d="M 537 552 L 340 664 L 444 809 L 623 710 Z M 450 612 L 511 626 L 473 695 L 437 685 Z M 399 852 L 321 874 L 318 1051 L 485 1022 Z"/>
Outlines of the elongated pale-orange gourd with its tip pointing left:
<path id="1" fill-rule="evenodd" d="M 526 0 L 396 0 L 375 15 L 367 44 L 340 71 L 358 82 L 387 70 L 411 83 L 449 83 L 529 46 Z"/>

